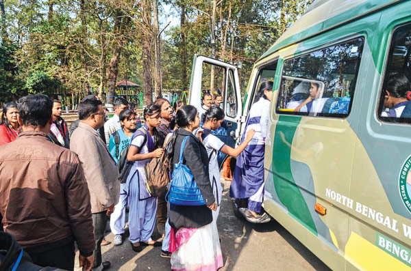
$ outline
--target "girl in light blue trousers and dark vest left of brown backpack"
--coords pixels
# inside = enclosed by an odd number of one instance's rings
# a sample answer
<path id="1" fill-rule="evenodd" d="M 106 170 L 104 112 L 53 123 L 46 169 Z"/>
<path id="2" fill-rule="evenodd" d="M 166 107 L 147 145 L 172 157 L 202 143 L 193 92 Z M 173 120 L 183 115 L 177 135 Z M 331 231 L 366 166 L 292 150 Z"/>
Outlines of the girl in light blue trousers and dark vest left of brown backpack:
<path id="1" fill-rule="evenodd" d="M 151 104 L 144 110 L 145 125 L 134 132 L 127 153 L 127 160 L 134 162 L 126 181 L 129 205 L 129 241 L 132 249 L 140 252 L 145 246 L 161 246 L 161 242 L 151 239 L 155 227 L 157 198 L 147 189 L 144 167 L 152 158 L 162 156 L 160 145 L 160 107 Z"/>

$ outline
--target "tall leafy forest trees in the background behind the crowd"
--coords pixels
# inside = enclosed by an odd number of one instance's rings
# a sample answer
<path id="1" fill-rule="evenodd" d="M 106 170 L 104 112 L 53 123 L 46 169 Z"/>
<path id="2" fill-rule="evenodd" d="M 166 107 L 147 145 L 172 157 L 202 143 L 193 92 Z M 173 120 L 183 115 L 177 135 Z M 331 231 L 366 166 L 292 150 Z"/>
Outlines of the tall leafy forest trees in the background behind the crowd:
<path id="1" fill-rule="evenodd" d="M 216 2 L 215 27 L 211 29 Z M 142 22 L 145 1 L 5 1 L 7 38 L 0 47 L 0 101 L 27 93 L 64 89 L 84 95 L 91 87 L 108 87 L 112 50 L 124 38 L 117 81 L 142 86 L 142 36 L 153 33 Z M 311 0 L 163 0 L 173 6 L 175 20 L 184 23 L 162 34 L 162 88 L 188 90 L 195 54 L 242 61 L 240 87 L 245 89 L 253 63 L 306 10 Z M 149 2 L 147 2 L 149 3 Z M 161 13 L 162 12 L 162 13 Z M 125 37 L 119 37 L 116 14 L 130 18 Z M 118 20 L 117 20 L 118 21 Z M 162 29 L 164 25 L 160 26 Z M 10 41 L 10 42 L 5 42 Z M 151 47 L 154 48 L 153 44 Z M 151 67 L 148 67 L 151 68 Z"/>

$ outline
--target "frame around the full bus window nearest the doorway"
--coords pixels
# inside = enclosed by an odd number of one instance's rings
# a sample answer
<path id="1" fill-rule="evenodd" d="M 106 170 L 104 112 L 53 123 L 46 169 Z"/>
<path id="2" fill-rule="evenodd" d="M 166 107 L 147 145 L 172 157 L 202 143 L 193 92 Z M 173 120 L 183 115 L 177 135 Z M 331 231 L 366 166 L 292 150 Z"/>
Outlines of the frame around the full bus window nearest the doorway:
<path id="1" fill-rule="evenodd" d="M 317 51 L 321 51 L 325 48 L 329 48 L 331 46 L 336 46 L 339 44 L 344 44 L 353 40 L 359 40 L 362 39 L 362 52 L 361 55 L 359 55 L 360 57 L 360 63 L 358 63 L 358 69 L 356 71 L 356 86 L 353 89 L 353 96 L 351 96 L 351 102 L 349 104 L 349 109 L 348 109 L 348 113 L 347 114 L 340 114 L 340 113 L 312 113 L 311 115 L 309 113 L 306 112 L 295 112 L 295 111 L 279 111 L 278 110 L 278 105 L 279 105 L 279 96 L 282 92 L 282 83 L 283 83 L 283 72 L 284 72 L 284 63 L 286 63 L 286 61 L 292 60 L 292 59 L 297 59 L 299 57 L 303 57 L 305 55 L 310 55 L 311 53 L 315 53 Z M 357 83 L 358 83 L 358 73 L 361 70 L 362 67 L 362 63 L 364 62 L 363 57 L 364 57 L 364 46 L 366 44 L 367 40 L 366 40 L 366 36 L 365 35 L 349 35 L 346 36 L 344 38 L 340 38 L 338 40 L 332 40 L 330 42 L 327 42 L 325 44 L 321 44 L 319 46 L 314 46 L 310 49 L 308 49 L 307 51 L 303 51 L 301 52 L 301 55 L 298 56 L 294 56 L 291 55 L 292 57 L 289 58 L 284 58 L 284 61 L 282 63 L 282 67 L 281 67 L 281 73 L 279 74 L 280 79 L 279 79 L 279 86 L 278 86 L 278 94 L 275 97 L 276 98 L 276 102 L 275 102 L 275 114 L 276 115 L 294 115 L 294 116 L 298 116 L 298 117 L 326 117 L 326 118 L 333 118 L 333 119 L 347 119 L 347 117 L 349 117 L 349 115 L 351 114 L 351 109 L 353 108 L 353 104 L 354 104 L 354 96 L 356 94 L 356 88 L 357 88 Z M 287 76 L 286 76 L 287 77 Z M 288 76 L 290 77 L 290 76 Z M 316 81 L 314 79 L 306 79 L 308 81 Z"/>

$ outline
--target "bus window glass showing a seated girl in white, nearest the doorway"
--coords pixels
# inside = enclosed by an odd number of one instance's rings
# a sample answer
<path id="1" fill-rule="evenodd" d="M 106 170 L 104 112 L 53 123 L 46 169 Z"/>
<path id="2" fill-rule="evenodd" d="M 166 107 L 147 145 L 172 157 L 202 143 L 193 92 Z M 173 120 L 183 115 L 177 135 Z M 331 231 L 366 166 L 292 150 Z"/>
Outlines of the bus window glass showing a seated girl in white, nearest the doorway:
<path id="1" fill-rule="evenodd" d="M 364 38 L 284 61 L 277 113 L 346 117 L 351 109 Z"/>

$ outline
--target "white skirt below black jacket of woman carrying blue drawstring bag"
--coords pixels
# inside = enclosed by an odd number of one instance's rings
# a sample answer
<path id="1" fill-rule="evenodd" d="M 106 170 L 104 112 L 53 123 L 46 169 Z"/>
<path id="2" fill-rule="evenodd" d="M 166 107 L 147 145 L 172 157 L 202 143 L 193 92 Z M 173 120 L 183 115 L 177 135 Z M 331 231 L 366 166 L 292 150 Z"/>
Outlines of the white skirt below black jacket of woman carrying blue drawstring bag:
<path id="1" fill-rule="evenodd" d="M 223 255 L 216 220 L 197 229 L 171 255 L 172 270 L 215 271 L 221 267 Z"/>

